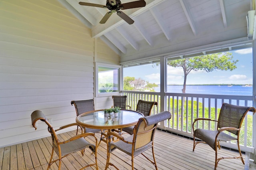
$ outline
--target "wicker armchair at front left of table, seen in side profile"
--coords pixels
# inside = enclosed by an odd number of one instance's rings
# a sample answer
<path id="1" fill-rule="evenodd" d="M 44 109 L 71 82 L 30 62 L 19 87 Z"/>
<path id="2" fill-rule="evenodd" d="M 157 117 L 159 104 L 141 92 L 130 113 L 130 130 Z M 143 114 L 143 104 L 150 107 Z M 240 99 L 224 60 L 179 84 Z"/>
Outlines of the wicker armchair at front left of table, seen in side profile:
<path id="1" fill-rule="evenodd" d="M 36 121 L 38 121 L 38 120 L 44 121 L 46 123 L 46 125 L 48 125 L 48 132 L 51 134 L 51 137 L 52 137 L 52 154 L 51 154 L 50 161 L 48 163 L 47 170 L 56 161 L 59 161 L 58 170 L 60 170 L 62 158 L 66 157 L 74 152 L 77 152 L 77 151 L 81 151 L 82 155 L 84 155 L 84 150 L 86 148 L 89 148 L 94 152 L 95 163 L 88 164 L 88 165 L 84 166 L 82 169 L 89 167 L 89 166 L 91 166 L 91 167 L 94 166 L 96 168 L 96 170 L 98 170 L 97 138 L 95 137 L 94 133 L 82 133 L 80 135 L 71 137 L 70 139 L 68 139 L 66 141 L 60 141 L 58 139 L 58 136 L 55 133 L 56 131 L 59 131 L 59 130 L 62 130 L 62 129 L 65 129 L 65 128 L 71 127 L 71 126 L 77 126 L 78 124 L 72 123 L 72 124 L 62 126 L 57 130 L 54 130 L 52 125 L 49 123 L 48 119 L 44 115 L 44 113 L 42 113 L 42 111 L 40 111 L 40 110 L 33 111 L 33 113 L 31 114 L 31 121 L 32 121 L 32 125 L 35 129 L 37 129 Z M 81 128 L 81 131 L 83 132 L 82 127 L 80 127 L 80 128 Z M 86 137 L 89 137 L 89 136 L 94 137 L 95 144 L 92 144 L 92 143 L 89 143 L 88 141 L 86 141 Z M 90 138 L 90 140 L 92 140 L 92 139 Z M 56 159 L 56 160 L 53 160 L 54 151 L 58 155 L 58 159 Z"/>

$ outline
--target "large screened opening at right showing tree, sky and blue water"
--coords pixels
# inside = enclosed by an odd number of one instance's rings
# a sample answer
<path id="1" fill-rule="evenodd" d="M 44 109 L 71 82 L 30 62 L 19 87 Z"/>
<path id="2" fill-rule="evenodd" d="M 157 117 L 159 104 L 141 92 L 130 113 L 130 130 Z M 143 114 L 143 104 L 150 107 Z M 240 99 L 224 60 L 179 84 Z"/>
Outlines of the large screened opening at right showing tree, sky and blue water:
<path id="1" fill-rule="evenodd" d="M 167 92 L 252 95 L 251 47 L 194 56 L 167 59 Z"/>

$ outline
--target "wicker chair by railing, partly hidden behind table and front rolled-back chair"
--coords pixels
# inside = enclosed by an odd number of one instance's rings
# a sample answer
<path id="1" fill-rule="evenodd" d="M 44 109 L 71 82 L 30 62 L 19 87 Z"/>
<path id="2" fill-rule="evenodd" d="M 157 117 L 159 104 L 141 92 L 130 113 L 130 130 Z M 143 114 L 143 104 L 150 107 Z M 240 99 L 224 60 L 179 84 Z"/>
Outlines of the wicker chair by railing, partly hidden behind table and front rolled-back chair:
<path id="1" fill-rule="evenodd" d="M 151 115 L 151 110 L 152 110 L 154 105 L 157 106 L 157 102 L 139 100 L 138 103 L 137 103 L 136 111 L 139 111 L 144 116 L 149 116 L 149 115 Z M 124 128 L 121 129 L 121 133 L 122 133 L 122 131 L 124 131 L 124 132 L 129 133 L 130 135 L 132 135 L 133 131 L 134 131 L 134 127 L 135 126 L 124 127 Z"/>

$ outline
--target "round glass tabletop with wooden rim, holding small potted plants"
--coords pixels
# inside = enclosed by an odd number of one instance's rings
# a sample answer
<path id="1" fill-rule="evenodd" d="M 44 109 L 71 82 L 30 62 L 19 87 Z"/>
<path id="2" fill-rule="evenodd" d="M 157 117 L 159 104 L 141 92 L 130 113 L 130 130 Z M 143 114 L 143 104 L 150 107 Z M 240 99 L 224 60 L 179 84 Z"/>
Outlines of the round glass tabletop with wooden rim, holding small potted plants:
<path id="1" fill-rule="evenodd" d="M 104 114 L 103 110 L 83 113 L 76 117 L 76 123 L 93 129 L 116 129 L 136 125 L 144 115 L 138 111 L 121 109 L 119 113 Z"/>

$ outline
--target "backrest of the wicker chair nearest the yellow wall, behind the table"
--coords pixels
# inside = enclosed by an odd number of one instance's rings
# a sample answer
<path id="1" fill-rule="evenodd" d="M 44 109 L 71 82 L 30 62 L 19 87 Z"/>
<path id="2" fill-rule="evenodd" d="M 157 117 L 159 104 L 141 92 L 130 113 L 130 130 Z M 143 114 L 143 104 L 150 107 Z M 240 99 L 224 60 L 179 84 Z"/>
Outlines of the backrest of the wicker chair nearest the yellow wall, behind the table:
<path id="1" fill-rule="evenodd" d="M 89 100 L 77 100 L 71 101 L 71 105 L 75 106 L 76 108 L 76 115 L 80 115 L 82 113 L 88 112 L 88 111 L 94 111 L 94 101 L 93 99 Z"/>

